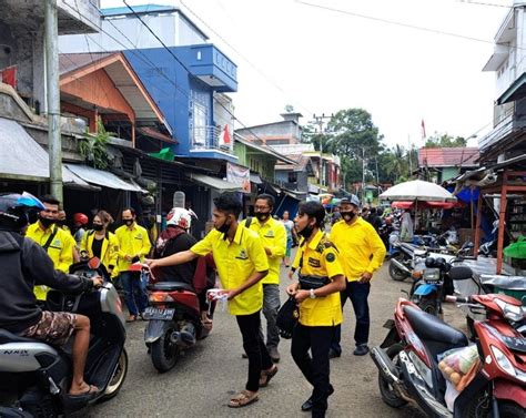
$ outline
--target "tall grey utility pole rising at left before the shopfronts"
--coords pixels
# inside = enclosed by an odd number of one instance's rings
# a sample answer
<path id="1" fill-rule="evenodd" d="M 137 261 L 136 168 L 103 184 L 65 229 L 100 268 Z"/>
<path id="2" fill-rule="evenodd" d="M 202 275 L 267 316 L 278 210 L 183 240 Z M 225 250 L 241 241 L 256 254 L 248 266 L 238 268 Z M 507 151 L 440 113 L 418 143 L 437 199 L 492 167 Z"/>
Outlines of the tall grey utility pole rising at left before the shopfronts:
<path id="1" fill-rule="evenodd" d="M 63 204 L 62 195 L 62 141 L 60 135 L 59 90 L 59 20 L 57 0 L 45 3 L 45 85 L 48 114 L 48 153 L 51 194 Z"/>

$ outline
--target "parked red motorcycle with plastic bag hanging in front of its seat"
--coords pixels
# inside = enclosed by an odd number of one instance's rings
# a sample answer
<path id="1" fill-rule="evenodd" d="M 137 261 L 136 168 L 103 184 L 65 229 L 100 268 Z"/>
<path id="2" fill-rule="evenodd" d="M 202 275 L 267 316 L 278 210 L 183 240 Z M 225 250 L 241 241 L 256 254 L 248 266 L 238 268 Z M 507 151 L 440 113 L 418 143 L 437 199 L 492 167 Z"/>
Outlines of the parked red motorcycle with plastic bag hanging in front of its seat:
<path id="1" fill-rule="evenodd" d="M 526 308 L 505 295 L 447 296 L 448 302 L 484 309 L 486 319 L 475 322 L 479 367 L 453 404 L 446 406 L 446 379 L 437 356 L 467 347 L 468 338 L 439 318 L 401 298 L 391 328 L 371 356 L 378 368 L 382 399 L 394 408 L 408 401 L 432 417 L 524 418 L 526 408 Z M 478 364 L 478 363 L 477 363 Z"/>

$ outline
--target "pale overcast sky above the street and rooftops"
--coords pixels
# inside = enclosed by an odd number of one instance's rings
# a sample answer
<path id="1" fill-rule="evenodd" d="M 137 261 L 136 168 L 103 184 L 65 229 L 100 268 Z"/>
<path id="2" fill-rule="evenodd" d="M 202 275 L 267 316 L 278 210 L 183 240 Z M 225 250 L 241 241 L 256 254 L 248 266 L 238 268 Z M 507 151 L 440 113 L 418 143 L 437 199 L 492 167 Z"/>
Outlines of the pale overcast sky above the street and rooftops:
<path id="1" fill-rule="evenodd" d="M 388 146 L 488 132 L 495 72 L 483 72 L 510 0 L 127 0 L 179 6 L 237 64 L 245 126 L 362 108 Z M 101 7 L 124 6 L 101 0 Z M 155 30 L 155 28 L 152 28 Z M 241 126 L 239 126 L 241 128 Z"/>

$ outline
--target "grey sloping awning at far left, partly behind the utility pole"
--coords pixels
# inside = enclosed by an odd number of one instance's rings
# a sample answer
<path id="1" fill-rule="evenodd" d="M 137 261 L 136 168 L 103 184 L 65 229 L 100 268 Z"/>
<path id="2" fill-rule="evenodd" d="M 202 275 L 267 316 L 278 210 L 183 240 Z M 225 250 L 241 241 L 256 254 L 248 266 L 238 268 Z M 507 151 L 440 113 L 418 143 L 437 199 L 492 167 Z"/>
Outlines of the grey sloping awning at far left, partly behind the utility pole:
<path id="1" fill-rule="evenodd" d="M 49 155 L 18 122 L 0 118 L 0 179 L 49 182 Z M 62 166 L 65 186 L 99 190 Z"/>

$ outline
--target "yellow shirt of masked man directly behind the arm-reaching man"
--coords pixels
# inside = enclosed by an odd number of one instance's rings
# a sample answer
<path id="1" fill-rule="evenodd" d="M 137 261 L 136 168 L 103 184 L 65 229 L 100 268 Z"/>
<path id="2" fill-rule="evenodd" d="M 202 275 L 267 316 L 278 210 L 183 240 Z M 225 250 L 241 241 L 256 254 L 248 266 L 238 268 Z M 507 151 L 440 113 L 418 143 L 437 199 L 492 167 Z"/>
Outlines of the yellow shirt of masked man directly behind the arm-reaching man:
<path id="1" fill-rule="evenodd" d="M 241 222 L 245 226 L 246 220 Z M 252 218 L 249 230 L 260 235 L 263 248 L 269 248 L 271 255 L 266 255 L 269 261 L 269 274 L 261 282 L 262 284 L 280 284 L 281 259 L 285 256 L 286 249 L 286 230 L 285 226 L 270 216 L 264 224 L 261 224 L 256 217 Z M 266 252 L 265 252 L 266 254 Z"/>

